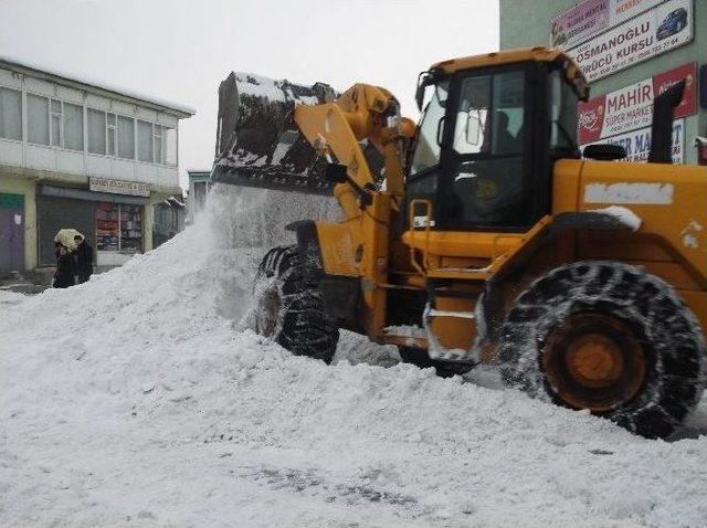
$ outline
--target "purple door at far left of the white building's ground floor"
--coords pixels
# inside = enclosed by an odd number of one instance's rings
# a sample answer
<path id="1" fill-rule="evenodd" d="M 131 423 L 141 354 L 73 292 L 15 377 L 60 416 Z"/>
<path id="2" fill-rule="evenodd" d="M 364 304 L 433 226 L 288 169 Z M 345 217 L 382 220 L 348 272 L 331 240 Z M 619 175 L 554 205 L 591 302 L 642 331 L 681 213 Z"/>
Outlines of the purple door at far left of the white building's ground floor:
<path id="1" fill-rule="evenodd" d="M 24 197 L 0 192 L 0 275 L 24 271 Z"/>

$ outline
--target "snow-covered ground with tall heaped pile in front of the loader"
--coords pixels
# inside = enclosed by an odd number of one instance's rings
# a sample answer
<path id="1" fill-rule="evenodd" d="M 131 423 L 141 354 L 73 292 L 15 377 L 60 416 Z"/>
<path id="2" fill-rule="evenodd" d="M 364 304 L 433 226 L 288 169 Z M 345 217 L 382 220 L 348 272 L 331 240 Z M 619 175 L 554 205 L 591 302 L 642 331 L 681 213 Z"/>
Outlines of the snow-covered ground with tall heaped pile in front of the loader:
<path id="1" fill-rule="evenodd" d="M 261 250 L 210 225 L 0 293 L 0 526 L 707 526 L 707 405 L 655 442 L 352 334 L 292 357 L 238 331 Z"/>

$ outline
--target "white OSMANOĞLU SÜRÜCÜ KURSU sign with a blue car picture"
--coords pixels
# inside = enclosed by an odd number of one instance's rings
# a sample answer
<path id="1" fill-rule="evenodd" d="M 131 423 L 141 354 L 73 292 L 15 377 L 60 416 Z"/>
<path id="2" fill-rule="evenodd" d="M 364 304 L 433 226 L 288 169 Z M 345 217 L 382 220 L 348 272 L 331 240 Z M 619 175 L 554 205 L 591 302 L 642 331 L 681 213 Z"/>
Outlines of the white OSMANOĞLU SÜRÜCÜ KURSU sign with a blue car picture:
<path id="1" fill-rule="evenodd" d="M 693 40 L 693 0 L 668 0 L 568 51 L 589 82 Z"/>

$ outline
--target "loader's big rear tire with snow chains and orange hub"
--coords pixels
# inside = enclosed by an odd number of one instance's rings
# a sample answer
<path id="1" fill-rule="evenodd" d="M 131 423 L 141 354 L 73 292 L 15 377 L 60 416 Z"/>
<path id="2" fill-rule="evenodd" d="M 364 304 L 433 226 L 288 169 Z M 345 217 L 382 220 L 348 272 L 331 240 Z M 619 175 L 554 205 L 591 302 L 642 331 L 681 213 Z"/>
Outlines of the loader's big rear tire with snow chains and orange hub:
<path id="1" fill-rule="evenodd" d="M 696 317 L 665 282 L 626 264 L 551 271 L 518 297 L 502 336 L 508 384 L 646 437 L 668 436 L 704 391 Z"/>

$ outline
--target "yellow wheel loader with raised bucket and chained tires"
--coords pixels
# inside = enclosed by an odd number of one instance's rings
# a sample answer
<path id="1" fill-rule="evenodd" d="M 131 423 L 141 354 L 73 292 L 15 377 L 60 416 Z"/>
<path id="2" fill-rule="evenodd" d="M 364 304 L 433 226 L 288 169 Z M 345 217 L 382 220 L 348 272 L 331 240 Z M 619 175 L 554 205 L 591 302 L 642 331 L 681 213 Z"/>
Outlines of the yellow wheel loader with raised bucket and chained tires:
<path id="1" fill-rule="evenodd" d="M 327 362 L 349 328 L 446 376 L 497 363 L 532 397 L 669 435 L 707 370 L 707 169 L 671 162 L 683 88 L 655 101 L 650 162 L 627 163 L 580 155 L 589 87 L 556 50 L 434 64 L 416 126 L 381 87 L 231 73 L 212 181 L 344 211 L 265 255 L 255 329 Z"/>

